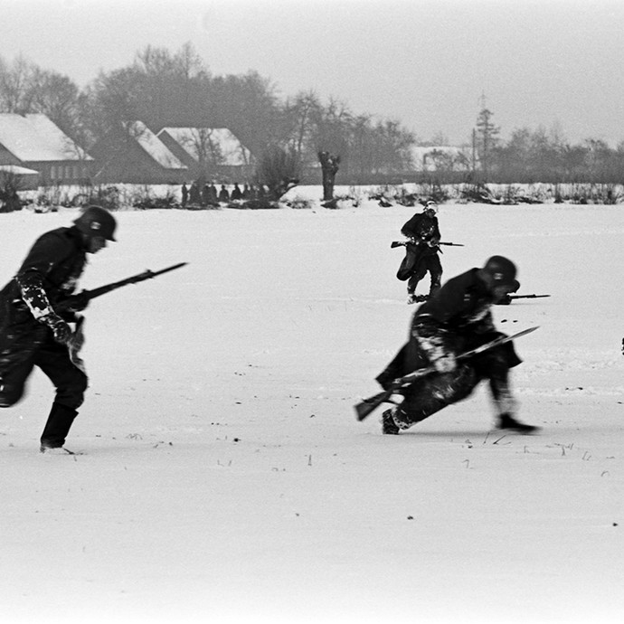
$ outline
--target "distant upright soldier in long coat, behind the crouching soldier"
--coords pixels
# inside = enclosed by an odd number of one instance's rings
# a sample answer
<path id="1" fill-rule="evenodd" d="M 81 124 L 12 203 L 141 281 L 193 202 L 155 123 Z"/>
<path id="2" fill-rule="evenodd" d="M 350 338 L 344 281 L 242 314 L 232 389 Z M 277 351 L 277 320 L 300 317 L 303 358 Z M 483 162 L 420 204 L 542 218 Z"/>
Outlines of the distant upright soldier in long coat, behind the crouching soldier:
<path id="1" fill-rule="evenodd" d="M 438 205 L 427 202 L 422 213 L 416 213 L 401 228 L 401 233 L 410 239 L 405 247 L 405 258 L 402 260 L 396 277 L 407 280 L 408 303 L 419 300 L 416 287 L 427 272 L 431 283 L 429 297 L 440 289 L 442 265 L 440 263 L 440 226 L 438 224 Z"/>

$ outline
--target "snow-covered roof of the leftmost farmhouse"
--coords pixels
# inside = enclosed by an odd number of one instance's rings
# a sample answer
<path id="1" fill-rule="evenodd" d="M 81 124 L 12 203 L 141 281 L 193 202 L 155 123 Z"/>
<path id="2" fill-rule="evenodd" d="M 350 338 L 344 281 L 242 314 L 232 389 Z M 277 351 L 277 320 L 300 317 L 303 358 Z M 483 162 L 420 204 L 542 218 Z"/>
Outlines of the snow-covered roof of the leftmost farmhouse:
<path id="1" fill-rule="evenodd" d="M 50 118 L 0 113 L 0 143 L 23 162 L 93 160 Z"/>

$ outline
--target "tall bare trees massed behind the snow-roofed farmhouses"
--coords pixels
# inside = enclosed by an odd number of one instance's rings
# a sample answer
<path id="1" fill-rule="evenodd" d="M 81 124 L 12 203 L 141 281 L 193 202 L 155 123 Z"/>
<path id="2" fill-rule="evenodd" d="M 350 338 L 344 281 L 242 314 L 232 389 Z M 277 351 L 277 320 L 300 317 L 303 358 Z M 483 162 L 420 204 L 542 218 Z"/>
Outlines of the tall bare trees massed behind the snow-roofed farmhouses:
<path id="1" fill-rule="evenodd" d="M 123 133 L 129 120 L 156 132 L 229 128 L 259 161 L 279 149 L 304 172 L 327 151 L 341 156 L 347 176 L 409 169 L 416 140 L 398 121 L 356 115 L 313 90 L 280 99 L 256 71 L 213 76 L 191 44 L 178 52 L 147 46 L 128 67 L 100 72 L 82 90 L 23 56 L 0 58 L 0 111 L 43 113 L 87 151 L 100 138 Z"/>

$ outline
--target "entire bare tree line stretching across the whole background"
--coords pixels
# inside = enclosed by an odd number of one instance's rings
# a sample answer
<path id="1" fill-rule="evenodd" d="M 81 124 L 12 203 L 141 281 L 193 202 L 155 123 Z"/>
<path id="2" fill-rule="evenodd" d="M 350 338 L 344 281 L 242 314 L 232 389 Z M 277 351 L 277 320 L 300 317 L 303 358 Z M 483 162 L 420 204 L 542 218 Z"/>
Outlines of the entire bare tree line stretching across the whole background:
<path id="1" fill-rule="evenodd" d="M 616 184 L 624 170 L 624 142 L 615 149 L 598 139 L 572 145 L 544 128 L 518 128 L 503 141 L 484 106 L 463 155 L 440 154 L 434 174 L 416 174 L 411 148 L 440 145 L 442 135 L 422 141 L 398 120 L 356 114 L 344 101 L 324 101 L 314 90 L 280 98 L 276 86 L 256 71 L 215 76 L 190 43 L 177 52 L 147 46 L 127 67 L 100 71 L 84 89 L 23 55 L 14 61 L 0 57 L 0 111 L 43 113 L 87 151 L 102 137 L 123 134 L 129 120 L 154 131 L 229 128 L 258 163 L 277 154 L 288 159 L 290 173 L 302 182 L 320 154 L 339 157 L 340 184 L 419 182 L 431 176 L 440 184 Z"/>

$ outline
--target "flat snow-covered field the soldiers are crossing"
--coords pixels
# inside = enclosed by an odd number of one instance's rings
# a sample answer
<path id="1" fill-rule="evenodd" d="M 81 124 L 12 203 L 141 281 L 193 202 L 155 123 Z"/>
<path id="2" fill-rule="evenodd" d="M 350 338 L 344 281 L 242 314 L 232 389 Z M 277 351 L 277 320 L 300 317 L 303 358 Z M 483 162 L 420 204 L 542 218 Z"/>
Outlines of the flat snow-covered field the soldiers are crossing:
<path id="1" fill-rule="evenodd" d="M 320 196 L 317 188 L 314 196 Z M 624 210 L 443 205 L 445 278 L 502 253 L 519 417 L 485 390 L 398 437 L 353 406 L 402 345 L 405 207 L 118 214 L 83 288 L 90 391 L 0 412 L 5 622 L 616 622 L 624 614 Z M 75 210 L 0 214 L 4 284 Z"/>

